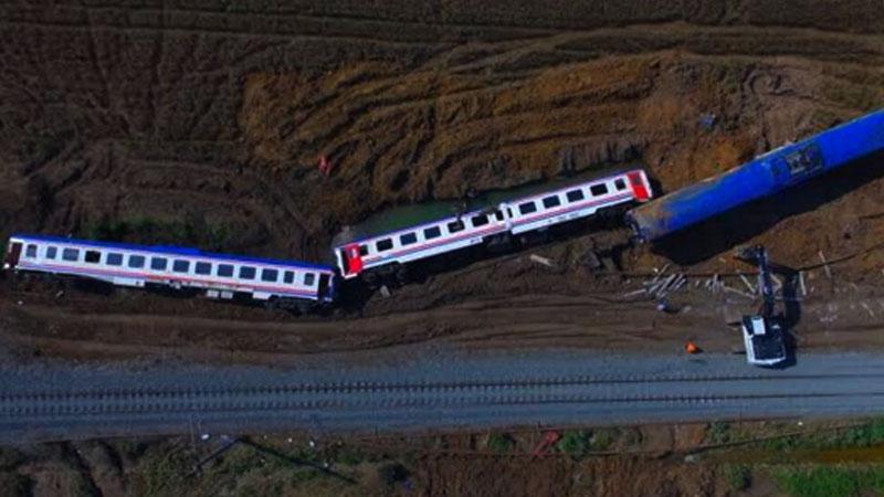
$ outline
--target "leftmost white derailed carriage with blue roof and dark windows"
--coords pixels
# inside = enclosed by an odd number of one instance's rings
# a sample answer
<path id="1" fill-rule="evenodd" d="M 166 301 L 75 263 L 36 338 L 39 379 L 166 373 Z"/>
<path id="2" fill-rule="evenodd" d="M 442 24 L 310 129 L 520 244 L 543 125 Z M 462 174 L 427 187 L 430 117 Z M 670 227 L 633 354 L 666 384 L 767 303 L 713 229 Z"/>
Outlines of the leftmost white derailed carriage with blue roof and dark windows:
<path id="1" fill-rule="evenodd" d="M 329 266 L 46 235 L 12 235 L 3 268 L 115 286 L 191 289 L 210 298 L 246 297 L 303 311 L 329 305 L 335 296 Z"/>

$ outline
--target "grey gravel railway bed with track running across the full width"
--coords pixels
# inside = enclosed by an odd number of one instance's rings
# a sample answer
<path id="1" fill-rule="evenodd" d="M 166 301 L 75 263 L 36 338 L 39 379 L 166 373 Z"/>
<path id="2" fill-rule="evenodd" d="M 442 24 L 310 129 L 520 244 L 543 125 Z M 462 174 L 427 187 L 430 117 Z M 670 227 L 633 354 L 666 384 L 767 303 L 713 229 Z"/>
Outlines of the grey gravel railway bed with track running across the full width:
<path id="1" fill-rule="evenodd" d="M 562 361 L 566 369 L 579 366 Z M 507 366 L 514 372 L 506 376 L 495 371 L 501 368 L 496 364 L 483 376 L 482 368 L 462 370 L 454 360 L 431 370 L 399 366 L 359 374 L 338 371 L 328 381 L 262 371 L 260 381 L 250 374 L 232 377 L 236 384 L 227 373 L 209 372 L 179 382 L 144 372 L 77 372 L 73 383 L 57 376 L 40 379 L 43 373 L 38 372 L 38 381 L 0 384 L 0 441 L 188 433 L 194 424 L 224 433 L 366 432 L 884 411 L 884 361 L 861 370 L 822 361 L 810 370 L 747 372 L 740 358 L 711 356 L 707 362 L 670 373 L 656 372 L 661 364 L 654 361 L 625 364 L 639 370 L 633 373 L 603 372 L 601 364 L 587 363 L 586 373 L 528 374 Z M 684 369 L 683 361 L 673 364 Z M 537 364 L 532 360 L 524 366 L 530 371 Z"/>

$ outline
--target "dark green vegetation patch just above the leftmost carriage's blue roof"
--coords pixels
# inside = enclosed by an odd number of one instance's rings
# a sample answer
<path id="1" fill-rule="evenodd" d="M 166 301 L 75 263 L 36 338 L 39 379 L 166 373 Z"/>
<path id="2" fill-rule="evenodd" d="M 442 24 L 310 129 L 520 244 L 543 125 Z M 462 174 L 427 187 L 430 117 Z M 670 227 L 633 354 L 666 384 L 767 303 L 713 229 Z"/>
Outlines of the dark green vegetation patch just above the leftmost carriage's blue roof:
<path id="1" fill-rule="evenodd" d="M 228 243 L 230 230 L 223 224 L 213 225 L 201 219 L 167 221 L 147 216 L 123 220 L 103 218 L 87 224 L 82 236 L 109 242 L 196 245 L 208 251 L 219 251 Z"/>

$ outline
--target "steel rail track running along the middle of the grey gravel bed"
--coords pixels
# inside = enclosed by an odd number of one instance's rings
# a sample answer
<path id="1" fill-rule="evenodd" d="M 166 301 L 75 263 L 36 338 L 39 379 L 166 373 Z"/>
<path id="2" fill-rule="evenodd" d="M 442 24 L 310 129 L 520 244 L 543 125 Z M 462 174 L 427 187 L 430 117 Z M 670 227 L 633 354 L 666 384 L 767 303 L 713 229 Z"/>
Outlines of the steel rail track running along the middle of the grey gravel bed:
<path id="1" fill-rule="evenodd" d="M 699 376 L 651 377 L 646 379 L 599 379 L 591 377 L 525 379 L 488 382 L 354 382 L 207 389 L 99 389 L 72 392 L 25 392 L 0 394 L 0 420 L 21 416 L 66 416 L 105 413 L 244 412 L 347 408 L 418 408 L 433 405 L 526 405 L 548 403 L 681 402 L 703 403 L 735 400 L 880 396 L 884 391 L 801 391 L 686 394 L 581 393 L 581 389 L 617 385 L 685 383 L 726 389 L 733 382 L 771 380 L 881 378 L 884 374 L 791 374 L 781 377 Z M 562 391 L 564 390 L 564 391 Z M 629 389 L 628 389 L 629 390 Z"/>

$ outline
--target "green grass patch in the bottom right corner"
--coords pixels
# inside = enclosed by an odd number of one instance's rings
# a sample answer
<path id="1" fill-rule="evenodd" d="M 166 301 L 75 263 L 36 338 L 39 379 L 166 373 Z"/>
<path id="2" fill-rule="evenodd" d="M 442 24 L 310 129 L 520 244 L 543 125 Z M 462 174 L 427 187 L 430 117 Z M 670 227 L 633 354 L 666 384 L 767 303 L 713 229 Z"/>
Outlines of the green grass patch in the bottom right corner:
<path id="1" fill-rule="evenodd" d="M 884 494 L 884 467 L 811 466 L 774 472 L 777 485 L 793 497 L 851 497 Z"/>

